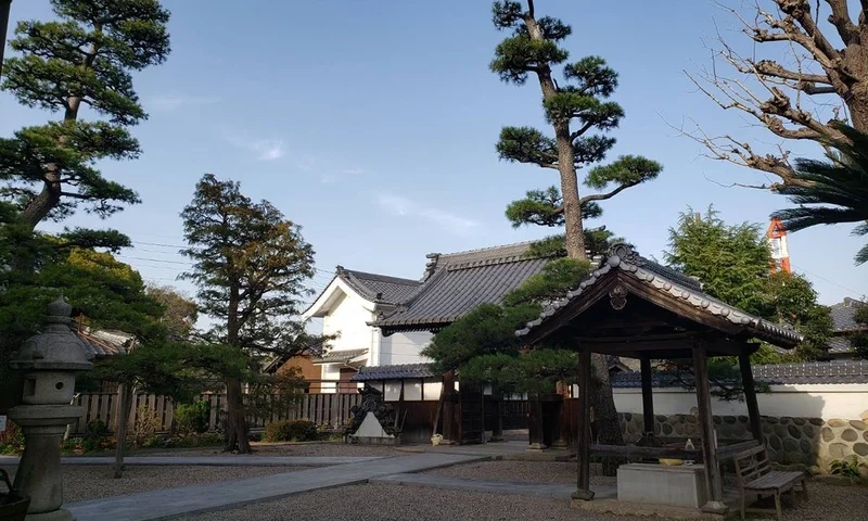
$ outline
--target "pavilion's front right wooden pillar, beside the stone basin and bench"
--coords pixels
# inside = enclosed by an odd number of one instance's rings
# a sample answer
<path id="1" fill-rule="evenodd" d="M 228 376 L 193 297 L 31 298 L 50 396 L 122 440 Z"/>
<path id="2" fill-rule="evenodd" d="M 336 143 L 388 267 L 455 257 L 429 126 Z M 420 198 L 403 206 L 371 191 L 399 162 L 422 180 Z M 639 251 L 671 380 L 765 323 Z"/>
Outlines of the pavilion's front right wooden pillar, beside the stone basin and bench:
<path id="1" fill-rule="evenodd" d="M 699 428 L 702 434 L 702 458 L 705 467 L 705 490 L 709 500 L 702 511 L 726 513 L 724 505 L 724 482 L 720 465 L 717 461 L 717 447 L 712 420 L 712 397 L 709 389 L 709 355 L 701 342 L 693 345 L 693 373 L 697 379 L 697 408 L 699 409 Z"/>

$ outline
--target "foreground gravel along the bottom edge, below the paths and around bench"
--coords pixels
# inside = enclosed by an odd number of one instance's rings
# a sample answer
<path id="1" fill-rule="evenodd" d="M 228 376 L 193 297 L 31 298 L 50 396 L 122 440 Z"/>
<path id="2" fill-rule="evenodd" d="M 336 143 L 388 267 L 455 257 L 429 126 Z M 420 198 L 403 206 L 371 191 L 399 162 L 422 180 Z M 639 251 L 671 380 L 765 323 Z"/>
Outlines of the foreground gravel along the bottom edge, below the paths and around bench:
<path id="1" fill-rule="evenodd" d="M 536 463 L 534 463 L 536 465 Z M 513 479 L 510 476 L 509 479 Z M 814 483 L 810 501 L 792 509 L 786 504 L 784 521 L 868 520 L 868 488 Z M 613 516 L 573 509 L 563 499 L 494 495 L 478 492 L 390 484 L 344 486 L 322 490 L 270 503 L 182 518 L 187 521 L 647 521 L 652 518 Z M 653 518 L 659 519 L 659 518 Z M 753 516 L 751 520 L 773 519 Z"/>

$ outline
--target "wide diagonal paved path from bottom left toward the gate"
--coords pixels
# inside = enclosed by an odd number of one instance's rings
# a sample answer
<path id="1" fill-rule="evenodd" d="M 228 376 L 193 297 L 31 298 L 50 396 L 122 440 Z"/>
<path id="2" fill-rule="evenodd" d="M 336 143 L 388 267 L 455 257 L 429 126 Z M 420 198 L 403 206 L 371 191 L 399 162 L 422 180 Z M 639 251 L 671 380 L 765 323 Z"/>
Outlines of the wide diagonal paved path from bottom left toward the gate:
<path id="1" fill-rule="evenodd" d="M 171 519 L 182 514 L 237 508 L 319 488 L 366 483 L 392 474 L 420 472 L 486 459 L 490 457 L 450 454 L 413 454 L 375 458 L 321 469 L 92 499 L 64 505 L 64 508 L 73 512 L 77 519 L 87 521 Z"/>

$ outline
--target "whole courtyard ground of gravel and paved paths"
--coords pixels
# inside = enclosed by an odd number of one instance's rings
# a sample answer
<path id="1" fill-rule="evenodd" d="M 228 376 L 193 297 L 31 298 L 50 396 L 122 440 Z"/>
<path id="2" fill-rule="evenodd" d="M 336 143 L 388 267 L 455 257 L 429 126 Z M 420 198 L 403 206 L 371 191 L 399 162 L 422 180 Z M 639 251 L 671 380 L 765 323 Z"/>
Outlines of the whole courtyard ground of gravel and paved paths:
<path id="1" fill-rule="evenodd" d="M 153 450 L 128 458 L 117 480 L 107 456 L 69 457 L 64 507 L 80 520 L 116 521 L 648 519 L 572 507 L 575 460 L 563 460 L 563 452 L 526 453 L 525 446 L 281 444 L 259 445 L 251 456 Z M 14 459 L 0 458 L 0 467 L 14 471 Z M 615 479 L 592 468 L 590 485 L 598 497 L 614 494 Z M 856 520 L 865 512 L 867 488 L 815 481 L 810 500 L 795 508 L 786 503 L 783 519 Z"/>

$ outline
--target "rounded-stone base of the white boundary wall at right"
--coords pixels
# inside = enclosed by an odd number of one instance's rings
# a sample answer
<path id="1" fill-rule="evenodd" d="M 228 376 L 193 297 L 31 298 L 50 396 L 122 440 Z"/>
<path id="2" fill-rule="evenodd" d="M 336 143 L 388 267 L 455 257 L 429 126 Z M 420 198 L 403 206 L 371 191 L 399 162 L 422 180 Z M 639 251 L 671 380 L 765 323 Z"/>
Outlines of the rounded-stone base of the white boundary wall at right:
<path id="1" fill-rule="evenodd" d="M 689 415 L 654 417 L 654 434 L 660 437 L 688 439 L 699 436 L 695 407 Z M 850 460 L 855 455 L 859 462 L 868 466 L 868 410 L 859 420 L 820 418 L 762 418 L 763 436 L 773 460 L 784 463 L 801 463 L 829 471 L 837 459 Z M 623 412 L 621 419 L 624 440 L 635 443 L 643 429 L 642 415 Z M 750 422 L 746 416 L 715 416 L 714 424 L 720 440 L 750 440 Z M 699 443 L 695 443 L 699 447 Z M 863 468 L 863 473 L 868 469 Z"/>

